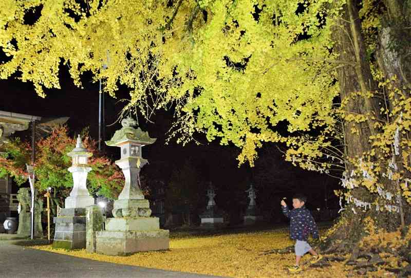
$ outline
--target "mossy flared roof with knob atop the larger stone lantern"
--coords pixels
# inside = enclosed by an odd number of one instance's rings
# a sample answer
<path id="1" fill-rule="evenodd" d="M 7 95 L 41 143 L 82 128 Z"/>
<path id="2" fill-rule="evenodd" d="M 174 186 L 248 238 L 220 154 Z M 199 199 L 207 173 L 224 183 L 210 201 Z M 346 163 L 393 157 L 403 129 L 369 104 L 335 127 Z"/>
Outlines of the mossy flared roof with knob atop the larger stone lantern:
<path id="1" fill-rule="evenodd" d="M 140 127 L 134 128 L 137 122 L 132 118 L 126 118 L 121 121 L 123 126 L 121 129 L 116 131 L 113 138 L 106 141 L 108 146 L 120 146 L 125 142 L 137 143 L 141 146 L 153 144 L 157 139 L 150 138 L 147 132 L 143 132 Z"/>

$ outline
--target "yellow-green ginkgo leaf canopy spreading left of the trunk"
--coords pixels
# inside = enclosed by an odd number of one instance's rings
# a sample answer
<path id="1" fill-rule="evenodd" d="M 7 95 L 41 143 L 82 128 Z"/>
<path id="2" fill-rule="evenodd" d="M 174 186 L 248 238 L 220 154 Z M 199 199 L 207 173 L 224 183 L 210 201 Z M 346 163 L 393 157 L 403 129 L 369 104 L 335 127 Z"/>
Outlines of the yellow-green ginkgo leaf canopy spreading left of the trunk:
<path id="1" fill-rule="evenodd" d="M 31 81 L 45 97 L 64 63 L 79 86 L 88 71 L 111 96 L 127 85 L 125 110 L 149 118 L 172 105 L 180 141 L 197 131 L 232 142 L 240 163 L 253 163 L 263 142 L 299 141 L 312 152 L 328 143 L 308 147 L 296 133 L 335 124 L 340 62 L 325 18 L 342 4 L 7 0 L 0 46 L 10 58 L 0 77 Z"/>

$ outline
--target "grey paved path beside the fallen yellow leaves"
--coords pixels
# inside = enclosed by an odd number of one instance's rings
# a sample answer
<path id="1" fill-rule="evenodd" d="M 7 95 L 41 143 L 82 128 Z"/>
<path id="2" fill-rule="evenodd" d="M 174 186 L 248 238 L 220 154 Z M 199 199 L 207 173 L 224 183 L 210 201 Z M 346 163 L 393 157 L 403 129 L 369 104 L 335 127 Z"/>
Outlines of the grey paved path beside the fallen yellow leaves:
<path id="1" fill-rule="evenodd" d="M 216 276 L 166 271 L 88 260 L 23 246 L 13 245 L 12 240 L 0 240 L 1 278 L 128 278 L 170 277 L 210 278 Z"/>

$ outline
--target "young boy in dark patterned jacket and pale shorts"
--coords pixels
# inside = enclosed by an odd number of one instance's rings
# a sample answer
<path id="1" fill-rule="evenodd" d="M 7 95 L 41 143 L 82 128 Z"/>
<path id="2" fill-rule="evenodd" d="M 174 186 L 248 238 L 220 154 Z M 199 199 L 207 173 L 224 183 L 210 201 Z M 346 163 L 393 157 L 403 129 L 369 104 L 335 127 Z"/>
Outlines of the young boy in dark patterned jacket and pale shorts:
<path id="1" fill-rule="evenodd" d="M 292 198 L 292 206 L 294 209 L 290 211 L 286 202 L 281 201 L 281 206 L 285 216 L 290 218 L 290 237 L 295 239 L 295 266 L 288 268 L 290 272 L 300 272 L 300 260 L 301 257 L 310 252 L 313 255 L 313 259 L 310 261 L 314 264 L 320 261 L 323 256 L 317 254 L 311 246 L 307 243 L 308 234 L 311 232 L 312 238 L 319 238 L 317 225 L 309 210 L 305 208 L 305 202 L 307 197 L 298 194 Z"/>

